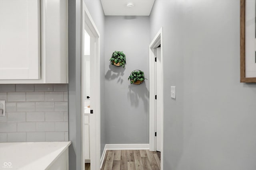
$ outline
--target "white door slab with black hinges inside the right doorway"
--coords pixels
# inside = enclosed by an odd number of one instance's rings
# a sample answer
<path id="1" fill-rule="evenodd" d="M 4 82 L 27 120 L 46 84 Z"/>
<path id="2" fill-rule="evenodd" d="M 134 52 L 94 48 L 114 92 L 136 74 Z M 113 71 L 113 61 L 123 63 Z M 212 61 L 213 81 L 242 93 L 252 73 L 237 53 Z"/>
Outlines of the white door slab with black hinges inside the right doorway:
<path id="1" fill-rule="evenodd" d="M 161 151 L 161 119 L 162 119 L 162 109 L 160 104 L 162 104 L 162 96 L 159 93 L 162 89 L 161 86 L 161 78 L 162 78 L 162 70 L 161 70 L 161 47 L 156 48 L 156 150 Z"/>

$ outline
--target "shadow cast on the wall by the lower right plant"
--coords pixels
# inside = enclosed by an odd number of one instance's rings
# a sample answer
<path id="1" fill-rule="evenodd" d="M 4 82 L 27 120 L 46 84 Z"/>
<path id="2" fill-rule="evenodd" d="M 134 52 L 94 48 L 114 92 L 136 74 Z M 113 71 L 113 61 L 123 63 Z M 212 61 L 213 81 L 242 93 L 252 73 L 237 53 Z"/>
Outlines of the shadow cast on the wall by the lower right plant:
<path id="1" fill-rule="evenodd" d="M 130 76 L 129 76 L 130 78 Z M 131 80 L 132 81 L 132 80 Z M 139 85 L 134 83 L 128 86 L 129 92 L 127 94 L 128 99 L 130 99 L 131 106 L 138 107 L 140 104 L 140 99 L 143 101 L 144 110 L 148 112 L 149 107 L 149 91 L 146 87 L 146 83 L 142 82 Z"/>

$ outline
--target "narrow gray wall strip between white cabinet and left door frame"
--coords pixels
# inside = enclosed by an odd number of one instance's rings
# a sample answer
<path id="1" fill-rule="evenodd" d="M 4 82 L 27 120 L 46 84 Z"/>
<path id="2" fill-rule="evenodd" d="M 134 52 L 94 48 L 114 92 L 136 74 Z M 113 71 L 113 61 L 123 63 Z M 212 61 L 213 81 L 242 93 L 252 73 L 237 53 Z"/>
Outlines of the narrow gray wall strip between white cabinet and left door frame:
<path id="1" fill-rule="evenodd" d="M 69 169 L 81 170 L 81 0 L 68 0 Z"/>

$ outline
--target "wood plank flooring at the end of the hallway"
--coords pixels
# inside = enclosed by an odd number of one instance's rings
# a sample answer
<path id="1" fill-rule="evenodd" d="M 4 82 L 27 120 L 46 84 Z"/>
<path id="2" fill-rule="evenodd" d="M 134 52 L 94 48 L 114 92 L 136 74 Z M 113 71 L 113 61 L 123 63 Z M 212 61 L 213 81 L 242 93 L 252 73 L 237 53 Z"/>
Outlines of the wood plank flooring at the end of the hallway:
<path id="1" fill-rule="evenodd" d="M 160 159 L 149 150 L 107 150 L 101 170 L 160 170 Z"/>

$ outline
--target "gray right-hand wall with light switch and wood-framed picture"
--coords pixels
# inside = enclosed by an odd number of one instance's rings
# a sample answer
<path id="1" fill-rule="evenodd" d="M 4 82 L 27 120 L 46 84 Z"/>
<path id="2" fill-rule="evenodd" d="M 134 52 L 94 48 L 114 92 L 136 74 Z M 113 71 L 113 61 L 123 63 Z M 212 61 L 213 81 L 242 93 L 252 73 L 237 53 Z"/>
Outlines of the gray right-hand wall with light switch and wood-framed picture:
<path id="1" fill-rule="evenodd" d="M 161 26 L 164 35 L 164 170 L 256 167 L 256 85 L 240 83 L 239 19 L 239 0 L 154 4 L 150 37 Z"/>

